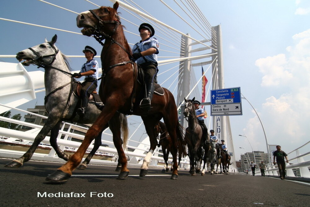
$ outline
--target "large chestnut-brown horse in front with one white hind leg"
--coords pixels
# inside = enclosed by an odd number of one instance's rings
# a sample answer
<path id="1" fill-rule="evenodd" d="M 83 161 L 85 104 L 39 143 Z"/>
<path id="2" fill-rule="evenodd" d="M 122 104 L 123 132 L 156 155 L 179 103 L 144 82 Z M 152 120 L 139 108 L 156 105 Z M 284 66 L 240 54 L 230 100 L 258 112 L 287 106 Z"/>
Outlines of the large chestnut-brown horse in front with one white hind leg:
<path id="1" fill-rule="evenodd" d="M 182 127 L 178 122 L 175 99 L 168 89 L 163 88 L 163 95 L 154 94 L 151 109 L 147 115 L 139 108 L 139 99 L 143 98 L 139 94 L 143 94 L 143 86 L 136 82 L 138 74 L 137 67 L 130 59 L 132 52 L 125 38 L 119 17 L 117 16 L 118 6 L 119 4 L 116 2 L 113 8 L 100 7 L 99 9 L 82 12 L 77 17 L 78 27 L 83 27 L 81 30 L 82 34 L 99 36 L 97 39 L 101 40 L 105 38 L 101 51 L 103 79 L 100 83 L 99 90 L 100 98 L 104 103 L 104 109 L 95 123 L 87 131 L 85 139 L 78 148 L 78 151 L 72 155 L 66 164 L 49 175 L 46 178 L 47 181 L 66 181 L 82 160 L 91 141 L 117 111 L 124 114 L 144 115 L 142 116 L 142 120 L 150 139 L 150 149 L 143 160 L 140 176 L 147 174 L 148 164 L 157 145 L 154 126 L 163 118 L 172 141 L 170 151 L 174 164 L 171 179 L 178 178 L 177 151 L 179 147 L 179 149 L 182 149 L 180 151 L 182 153 L 185 146 Z M 121 172 L 117 179 L 124 179 L 128 176 L 129 170 L 127 169 L 127 159 L 122 149 L 120 135 L 120 130 L 118 133 L 113 133 L 113 142 L 117 149 L 120 163 L 122 164 Z"/>

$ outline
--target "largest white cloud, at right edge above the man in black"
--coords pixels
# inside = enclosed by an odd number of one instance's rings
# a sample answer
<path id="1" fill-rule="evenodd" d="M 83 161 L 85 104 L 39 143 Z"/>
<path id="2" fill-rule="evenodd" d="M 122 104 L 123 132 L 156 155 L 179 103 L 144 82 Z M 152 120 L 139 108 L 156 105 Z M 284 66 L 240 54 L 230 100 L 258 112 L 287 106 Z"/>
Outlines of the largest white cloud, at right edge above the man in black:
<path id="1" fill-rule="evenodd" d="M 285 54 L 255 62 L 263 74 L 261 85 L 274 94 L 266 99 L 261 111 L 269 144 L 285 143 L 286 147 L 298 147 L 297 143 L 308 139 L 310 133 L 310 29 L 292 39 L 294 43 L 286 47 Z M 251 122 L 247 128 L 255 130 Z"/>

